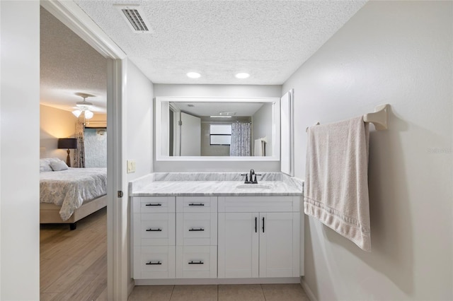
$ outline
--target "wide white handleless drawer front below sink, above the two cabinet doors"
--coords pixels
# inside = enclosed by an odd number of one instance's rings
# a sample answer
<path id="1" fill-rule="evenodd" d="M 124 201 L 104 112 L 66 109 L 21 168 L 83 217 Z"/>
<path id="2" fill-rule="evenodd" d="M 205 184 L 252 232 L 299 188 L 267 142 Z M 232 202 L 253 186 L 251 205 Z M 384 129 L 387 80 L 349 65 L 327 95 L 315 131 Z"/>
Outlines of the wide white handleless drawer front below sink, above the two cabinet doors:
<path id="1" fill-rule="evenodd" d="M 300 196 L 219 196 L 219 212 L 299 212 Z"/>

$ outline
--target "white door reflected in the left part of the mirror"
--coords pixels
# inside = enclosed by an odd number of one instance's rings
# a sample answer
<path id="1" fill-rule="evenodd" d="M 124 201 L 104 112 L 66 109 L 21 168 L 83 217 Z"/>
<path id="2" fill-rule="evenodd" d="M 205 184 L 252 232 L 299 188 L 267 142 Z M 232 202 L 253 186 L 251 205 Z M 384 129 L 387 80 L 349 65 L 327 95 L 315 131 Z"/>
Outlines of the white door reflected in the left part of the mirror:
<path id="1" fill-rule="evenodd" d="M 201 155 L 201 119 L 181 112 L 180 155 Z"/>

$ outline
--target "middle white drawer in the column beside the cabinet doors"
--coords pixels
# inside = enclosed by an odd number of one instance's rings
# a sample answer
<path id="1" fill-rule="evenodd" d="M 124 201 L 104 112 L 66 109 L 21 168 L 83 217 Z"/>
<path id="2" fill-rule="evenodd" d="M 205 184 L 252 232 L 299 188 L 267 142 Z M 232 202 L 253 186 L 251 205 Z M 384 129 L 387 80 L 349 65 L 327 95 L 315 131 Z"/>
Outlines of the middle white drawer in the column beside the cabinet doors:
<path id="1" fill-rule="evenodd" d="M 217 245 L 217 213 L 176 213 L 176 244 Z"/>

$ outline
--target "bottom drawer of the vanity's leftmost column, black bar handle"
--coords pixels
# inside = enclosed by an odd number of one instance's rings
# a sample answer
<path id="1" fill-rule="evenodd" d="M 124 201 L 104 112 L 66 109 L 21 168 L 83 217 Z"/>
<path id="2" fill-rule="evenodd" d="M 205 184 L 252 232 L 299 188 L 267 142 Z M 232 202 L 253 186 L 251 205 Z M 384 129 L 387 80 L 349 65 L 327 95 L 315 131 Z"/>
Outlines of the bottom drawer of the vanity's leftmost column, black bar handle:
<path id="1" fill-rule="evenodd" d="M 134 278 L 174 278 L 175 247 L 137 247 L 134 249 Z"/>

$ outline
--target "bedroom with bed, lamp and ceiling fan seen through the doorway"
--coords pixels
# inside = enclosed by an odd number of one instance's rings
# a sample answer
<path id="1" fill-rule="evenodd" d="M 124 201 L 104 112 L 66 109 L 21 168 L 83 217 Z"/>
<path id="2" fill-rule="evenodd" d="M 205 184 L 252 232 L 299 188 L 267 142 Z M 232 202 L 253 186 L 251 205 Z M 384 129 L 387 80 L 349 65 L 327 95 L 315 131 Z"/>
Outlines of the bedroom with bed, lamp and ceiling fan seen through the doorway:
<path id="1" fill-rule="evenodd" d="M 54 197 L 56 194 L 55 186 L 53 186 L 55 181 L 67 178 L 73 181 L 75 177 L 80 179 L 80 172 L 84 172 L 83 177 L 88 177 L 84 180 L 85 182 L 92 183 L 95 180 L 97 182 L 94 183 L 103 187 L 102 191 L 93 189 L 93 191 L 80 192 L 80 196 L 83 196 L 84 200 L 90 196 L 88 200 L 91 201 L 92 197 L 105 194 L 106 131 L 108 130 L 105 112 L 107 62 L 96 50 L 44 8 L 40 9 L 40 31 L 40 161 L 45 163 L 49 160 L 48 158 L 57 158 L 67 163 L 68 150 L 59 148 L 59 138 L 76 137 L 78 118 L 72 111 L 79 109 L 76 107 L 76 102 L 83 101 L 83 98 L 76 93 L 86 93 L 93 95 L 86 99 L 87 102 L 93 103 L 89 107 L 89 110 L 93 112 L 93 117 L 81 120 L 84 126 L 80 127 L 82 131 L 77 136 L 80 139 L 77 143 L 79 148 L 77 154 L 84 154 L 87 170 L 101 172 L 99 176 L 86 174 L 85 168 L 40 172 L 41 199 L 42 201 L 59 201 L 60 199 Z M 80 117 L 82 116 L 84 114 L 81 114 Z M 88 114 L 87 117 L 89 117 Z M 84 152 L 80 151 L 82 133 Z M 76 164 L 74 160 L 76 149 L 69 149 L 69 154 L 69 166 L 80 165 Z M 77 174 L 74 175 L 74 172 Z M 43 181 L 52 182 L 47 184 Z M 78 182 L 77 185 L 79 183 L 82 182 Z M 78 201 L 69 197 L 67 192 L 75 187 L 69 183 L 64 185 L 66 191 L 57 196 L 64 196 L 64 202 L 71 201 L 71 205 L 78 208 L 71 216 L 69 213 L 74 209 L 70 206 L 67 207 L 67 210 L 62 211 L 54 203 L 40 203 L 41 300 L 49 300 L 51 297 L 64 298 L 68 294 L 71 296 L 74 293 L 71 290 L 72 285 L 82 283 L 86 278 L 91 278 L 92 283 L 96 283 L 91 290 L 95 292 L 101 290 L 102 292 L 105 289 L 107 213 L 104 207 L 106 198 L 103 196 L 97 203 L 84 201 L 84 206 L 79 208 Z M 62 220 L 62 214 L 67 220 Z M 78 249 L 78 252 L 71 252 L 73 249 Z M 84 258 L 89 258 L 89 260 Z M 84 266 L 87 262 L 91 264 L 88 264 L 86 268 L 76 268 Z M 93 268 L 98 271 L 93 272 Z M 91 275 L 87 275 L 87 273 Z M 93 273 L 98 273 L 94 279 Z M 69 281 L 69 279 L 73 280 Z M 89 294 L 91 290 L 84 288 L 83 291 L 84 294 Z M 72 295 L 71 297 L 84 298 L 82 295 Z"/>

